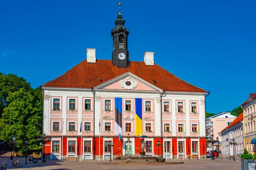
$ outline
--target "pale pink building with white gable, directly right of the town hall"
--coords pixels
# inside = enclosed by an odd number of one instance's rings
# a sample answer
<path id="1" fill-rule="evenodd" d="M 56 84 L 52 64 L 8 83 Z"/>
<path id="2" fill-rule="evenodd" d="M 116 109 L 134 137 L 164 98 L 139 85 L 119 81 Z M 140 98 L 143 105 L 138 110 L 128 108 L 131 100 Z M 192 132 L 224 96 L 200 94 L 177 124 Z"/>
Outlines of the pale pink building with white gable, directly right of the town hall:
<path id="1" fill-rule="evenodd" d="M 231 115 L 230 113 L 220 112 L 214 116 L 206 118 L 206 136 L 211 137 L 214 135 L 214 140 L 219 138 L 219 143 L 221 145 L 221 135 L 220 132 L 231 124 L 231 122 L 237 118 L 237 116 Z M 212 147 L 211 143 L 208 143 L 209 147 Z M 221 147 L 220 147 L 221 150 Z"/>

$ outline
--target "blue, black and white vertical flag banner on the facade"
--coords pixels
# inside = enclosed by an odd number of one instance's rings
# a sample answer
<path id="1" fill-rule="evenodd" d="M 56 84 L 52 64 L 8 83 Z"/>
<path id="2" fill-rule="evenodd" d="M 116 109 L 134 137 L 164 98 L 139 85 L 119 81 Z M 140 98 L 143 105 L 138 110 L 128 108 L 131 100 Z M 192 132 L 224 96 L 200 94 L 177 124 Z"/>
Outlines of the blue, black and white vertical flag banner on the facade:
<path id="1" fill-rule="evenodd" d="M 115 102 L 115 135 L 122 135 L 122 98 L 116 97 L 114 98 Z"/>

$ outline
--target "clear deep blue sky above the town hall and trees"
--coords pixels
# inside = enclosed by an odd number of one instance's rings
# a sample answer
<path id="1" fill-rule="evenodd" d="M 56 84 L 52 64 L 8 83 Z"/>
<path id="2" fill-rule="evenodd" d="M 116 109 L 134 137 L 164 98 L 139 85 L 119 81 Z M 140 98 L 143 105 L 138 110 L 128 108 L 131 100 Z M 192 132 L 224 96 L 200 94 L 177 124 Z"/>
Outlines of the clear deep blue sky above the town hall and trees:
<path id="1" fill-rule="evenodd" d="M 43 85 L 86 58 L 111 60 L 119 0 L 0 2 L 0 72 Z M 255 0 L 121 0 L 130 61 L 154 62 L 210 91 L 206 111 L 231 111 L 255 93 Z"/>

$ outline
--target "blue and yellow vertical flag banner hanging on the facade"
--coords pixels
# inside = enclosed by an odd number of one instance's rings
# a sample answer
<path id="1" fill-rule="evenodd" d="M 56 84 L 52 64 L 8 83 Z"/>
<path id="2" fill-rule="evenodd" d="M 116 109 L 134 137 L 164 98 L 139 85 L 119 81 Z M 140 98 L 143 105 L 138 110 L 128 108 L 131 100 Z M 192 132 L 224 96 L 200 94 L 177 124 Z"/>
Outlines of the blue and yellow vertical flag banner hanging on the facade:
<path id="1" fill-rule="evenodd" d="M 142 98 L 135 98 L 135 135 L 142 134 Z"/>

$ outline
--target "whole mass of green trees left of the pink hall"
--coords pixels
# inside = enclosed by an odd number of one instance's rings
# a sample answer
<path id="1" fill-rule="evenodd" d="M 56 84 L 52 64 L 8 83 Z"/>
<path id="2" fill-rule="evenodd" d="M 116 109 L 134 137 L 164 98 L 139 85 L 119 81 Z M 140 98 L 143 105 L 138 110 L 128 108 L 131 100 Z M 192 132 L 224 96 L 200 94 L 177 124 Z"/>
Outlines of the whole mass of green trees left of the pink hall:
<path id="1" fill-rule="evenodd" d="M 30 83 L 14 74 L 0 73 L 0 139 L 11 145 L 15 135 L 16 147 L 24 152 L 25 140 L 36 146 L 42 134 L 43 97 L 40 88 L 33 89 Z M 8 91 L 9 90 L 9 91 Z M 2 109 L 2 110 L 1 110 Z"/>

